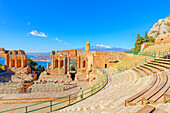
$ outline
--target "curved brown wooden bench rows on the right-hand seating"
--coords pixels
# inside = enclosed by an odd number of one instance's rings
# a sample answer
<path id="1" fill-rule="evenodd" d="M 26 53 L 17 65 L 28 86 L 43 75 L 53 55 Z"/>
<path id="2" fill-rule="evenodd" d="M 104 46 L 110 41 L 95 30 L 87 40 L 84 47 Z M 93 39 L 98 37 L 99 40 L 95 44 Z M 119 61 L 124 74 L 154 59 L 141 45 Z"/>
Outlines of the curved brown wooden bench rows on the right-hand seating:
<path id="1" fill-rule="evenodd" d="M 150 63 L 150 62 L 148 62 Z M 163 62 L 161 62 L 163 63 Z M 142 104 L 144 101 L 146 102 L 151 102 L 151 103 L 157 103 L 157 101 L 166 93 L 166 91 L 169 89 L 170 87 L 170 74 L 169 74 L 169 70 L 166 70 L 162 67 L 166 67 L 168 68 L 168 66 L 163 66 L 161 65 L 157 65 L 157 63 L 150 63 L 150 64 L 144 64 L 140 65 L 140 67 L 142 68 L 147 68 L 150 71 L 154 71 L 153 73 L 155 73 L 154 75 L 154 80 L 153 82 L 150 84 L 150 86 L 142 91 L 140 91 L 139 93 L 136 93 L 135 95 L 131 96 L 130 98 L 128 98 L 127 100 L 125 100 L 125 106 L 126 104 L 130 104 L 130 105 L 136 105 L 138 102 L 142 101 Z M 159 67 L 160 66 L 160 67 Z M 156 69 L 152 69 L 152 68 L 156 68 Z M 161 71 L 160 72 L 158 72 Z"/>

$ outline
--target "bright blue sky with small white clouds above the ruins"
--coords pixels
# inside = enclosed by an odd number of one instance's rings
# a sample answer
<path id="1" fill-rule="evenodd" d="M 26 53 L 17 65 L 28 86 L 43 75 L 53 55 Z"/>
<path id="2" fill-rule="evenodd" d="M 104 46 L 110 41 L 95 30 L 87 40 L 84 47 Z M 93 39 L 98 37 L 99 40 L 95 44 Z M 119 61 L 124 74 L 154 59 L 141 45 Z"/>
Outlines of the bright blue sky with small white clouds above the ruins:
<path id="1" fill-rule="evenodd" d="M 170 15 L 170 0 L 0 0 L 0 47 L 50 52 L 103 44 L 133 48 Z"/>

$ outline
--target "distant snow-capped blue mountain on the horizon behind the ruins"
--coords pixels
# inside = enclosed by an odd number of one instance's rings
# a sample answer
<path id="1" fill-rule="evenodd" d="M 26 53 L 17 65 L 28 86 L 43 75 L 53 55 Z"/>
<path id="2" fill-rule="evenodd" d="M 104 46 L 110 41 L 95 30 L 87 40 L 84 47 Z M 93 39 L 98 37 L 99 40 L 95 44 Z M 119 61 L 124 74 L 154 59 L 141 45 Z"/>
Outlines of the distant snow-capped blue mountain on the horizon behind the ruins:
<path id="1" fill-rule="evenodd" d="M 77 50 L 85 50 L 85 47 L 78 48 Z M 94 46 L 90 46 L 90 51 L 120 51 L 120 52 L 124 52 L 127 50 L 128 49 L 118 48 L 118 47 L 110 47 L 110 46 L 106 46 L 103 44 L 96 44 Z"/>

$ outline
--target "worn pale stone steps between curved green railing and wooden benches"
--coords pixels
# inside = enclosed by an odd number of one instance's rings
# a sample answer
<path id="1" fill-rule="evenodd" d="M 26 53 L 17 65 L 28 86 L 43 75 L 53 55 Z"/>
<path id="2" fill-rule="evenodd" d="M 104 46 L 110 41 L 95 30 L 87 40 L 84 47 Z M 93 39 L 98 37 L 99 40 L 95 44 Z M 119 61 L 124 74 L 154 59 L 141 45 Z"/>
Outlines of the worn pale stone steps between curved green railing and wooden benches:
<path id="1" fill-rule="evenodd" d="M 89 112 L 89 110 L 105 108 L 110 105 L 119 106 L 123 104 L 124 100 L 132 95 L 132 93 L 139 92 L 140 89 L 145 88 L 150 82 L 151 77 L 152 76 L 145 76 L 138 78 L 133 70 L 113 74 L 110 78 L 111 82 L 109 82 L 103 90 L 87 98 L 86 101 L 78 103 L 78 106 L 71 106 L 66 109 L 77 112 L 77 108 L 79 108 L 86 109 L 87 112 Z"/>

